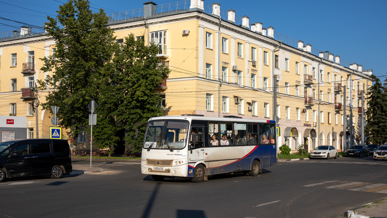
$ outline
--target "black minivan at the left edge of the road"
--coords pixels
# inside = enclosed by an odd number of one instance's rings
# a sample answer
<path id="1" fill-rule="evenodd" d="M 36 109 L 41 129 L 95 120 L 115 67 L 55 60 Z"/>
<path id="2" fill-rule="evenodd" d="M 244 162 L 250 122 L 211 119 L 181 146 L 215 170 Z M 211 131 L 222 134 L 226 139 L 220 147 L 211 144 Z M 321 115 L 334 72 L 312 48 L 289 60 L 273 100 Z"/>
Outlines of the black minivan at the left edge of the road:
<path id="1" fill-rule="evenodd" d="M 63 139 L 17 139 L 0 143 L 0 182 L 5 178 L 72 172 L 71 152 Z"/>

